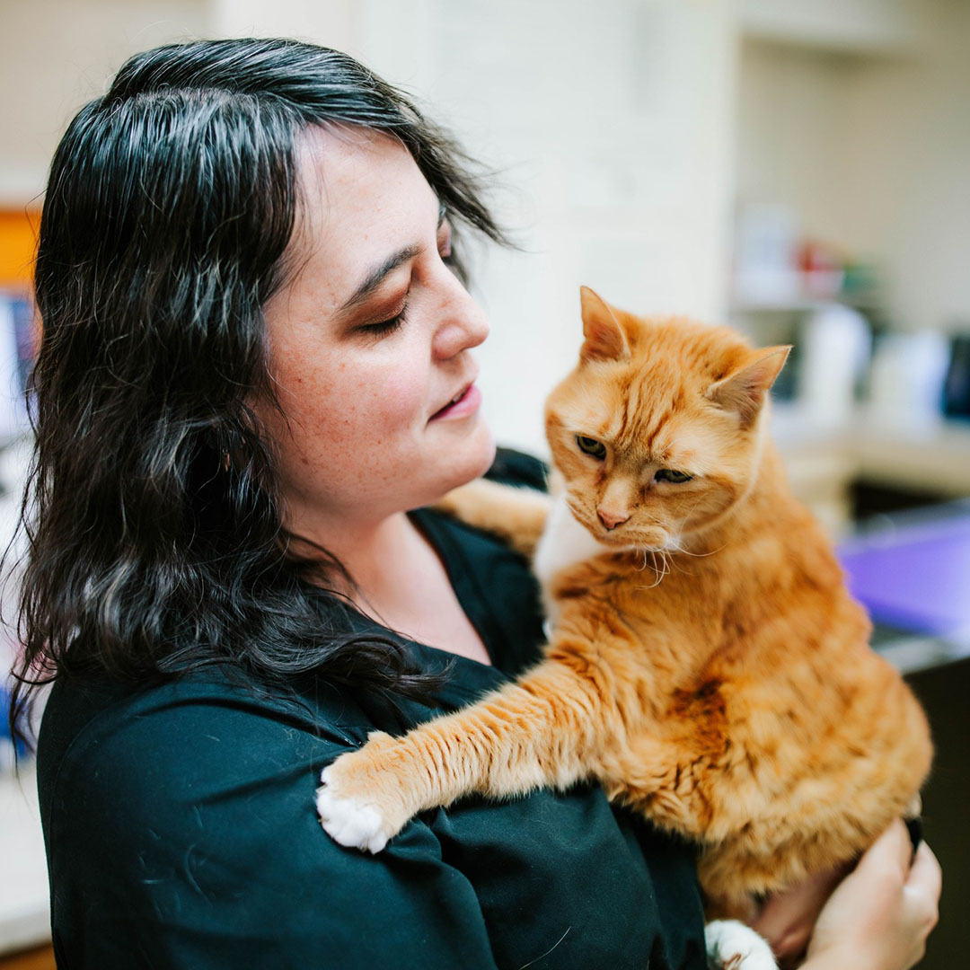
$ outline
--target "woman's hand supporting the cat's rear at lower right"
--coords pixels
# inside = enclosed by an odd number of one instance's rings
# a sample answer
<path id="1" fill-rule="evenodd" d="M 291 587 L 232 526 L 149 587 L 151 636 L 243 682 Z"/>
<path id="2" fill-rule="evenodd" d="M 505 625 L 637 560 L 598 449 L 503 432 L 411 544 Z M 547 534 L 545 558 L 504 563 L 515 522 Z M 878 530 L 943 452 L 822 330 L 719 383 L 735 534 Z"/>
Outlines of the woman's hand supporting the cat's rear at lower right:
<path id="1" fill-rule="evenodd" d="M 938 920 L 942 874 L 929 847 L 913 855 L 896 821 L 831 894 L 819 915 L 803 970 L 909 970 Z"/>

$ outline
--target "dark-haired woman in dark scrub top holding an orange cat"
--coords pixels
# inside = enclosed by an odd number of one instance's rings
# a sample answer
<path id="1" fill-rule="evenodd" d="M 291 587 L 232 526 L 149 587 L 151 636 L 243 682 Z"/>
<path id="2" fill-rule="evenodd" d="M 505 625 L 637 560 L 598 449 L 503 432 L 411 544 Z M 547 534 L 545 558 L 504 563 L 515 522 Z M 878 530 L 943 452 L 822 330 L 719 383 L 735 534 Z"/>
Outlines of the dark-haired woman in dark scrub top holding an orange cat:
<path id="1" fill-rule="evenodd" d="M 378 857 L 314 817 L 323 765 L 541 639 L 526 564 L 420 510 L 493 466 L 468 228 L 501 240 L 458 149 L 331 50 L 148 51 L 72 122 L 22 606 L 61 965 L 704 966 L 690 848 L 594 788 L 427 813 Z M 921 952 L 938 870 L 904 842 L 812 966 Z M 797 952 L 792 899 L 764 925 Z"/>

